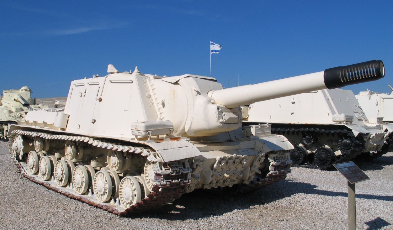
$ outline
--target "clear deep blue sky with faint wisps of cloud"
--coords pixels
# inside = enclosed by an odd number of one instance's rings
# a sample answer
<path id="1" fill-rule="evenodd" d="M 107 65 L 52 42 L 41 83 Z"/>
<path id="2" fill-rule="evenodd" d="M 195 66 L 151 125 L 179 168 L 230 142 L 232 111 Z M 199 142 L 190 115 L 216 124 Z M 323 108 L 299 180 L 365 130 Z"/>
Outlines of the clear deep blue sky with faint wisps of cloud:
<path id="1" fill-rule="evenodd" d="M 393 1 L 18 1 L 0 2 L 1 90 L 66 96 L 70 82 L 107 65 L 160 76 L 210 75 L 228 87 L 373 59 L 393 85 Z"/>

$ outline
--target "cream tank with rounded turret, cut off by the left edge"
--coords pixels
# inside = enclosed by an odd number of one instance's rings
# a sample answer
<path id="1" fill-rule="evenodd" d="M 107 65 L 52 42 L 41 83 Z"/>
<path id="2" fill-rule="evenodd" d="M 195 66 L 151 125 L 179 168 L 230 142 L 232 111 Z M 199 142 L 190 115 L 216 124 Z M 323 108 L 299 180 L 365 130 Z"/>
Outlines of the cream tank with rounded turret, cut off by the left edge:
<path id="1" fill-rule="evenodd" d="M 9 126 L 17 124 L 17 120 L 23 118 L 29 110 L 37 108 L 48 107 L 35 104 L 29 87 L 4 90 L 0 100 L 0 139 L 7 139 Z"/>

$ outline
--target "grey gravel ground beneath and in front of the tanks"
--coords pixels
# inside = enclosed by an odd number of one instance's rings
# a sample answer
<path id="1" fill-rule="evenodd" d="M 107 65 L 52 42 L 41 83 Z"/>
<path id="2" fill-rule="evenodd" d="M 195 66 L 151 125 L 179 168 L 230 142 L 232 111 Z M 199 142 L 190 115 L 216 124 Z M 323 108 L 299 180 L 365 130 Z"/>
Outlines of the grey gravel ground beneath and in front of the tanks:
<path id="1" fill-rule="evenodd" d="M 347 182 L 337 171 L 293 168 L 285 181 L 244 195 L 195 191 L 173 204 L 120 218 L 24 178 L 0 142 L 0 229 L 347 229 Z M 392 229 L 393 153 L 356 162 L 358 229 Z"/>

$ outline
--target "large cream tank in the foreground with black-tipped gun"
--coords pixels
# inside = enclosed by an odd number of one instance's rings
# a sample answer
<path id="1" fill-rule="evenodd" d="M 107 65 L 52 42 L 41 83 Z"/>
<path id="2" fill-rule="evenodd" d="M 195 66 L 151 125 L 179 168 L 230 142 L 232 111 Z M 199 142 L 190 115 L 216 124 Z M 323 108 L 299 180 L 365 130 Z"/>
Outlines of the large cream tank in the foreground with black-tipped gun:
<path id="1" fill-rule="evenodd" d="M 293 146 L 269 125 L 241 127 L 240 106 L 383 77 L 380 61 L 374 75 L 346 70 L 223 89 L 211 77 L 109 65 L 105 77 L 71 82 L 64 111 L 29 111 L 12 125 L 10 152 L 31 181 L 121 216 L 195 189 L 253 190 L 286 177 Z"/>

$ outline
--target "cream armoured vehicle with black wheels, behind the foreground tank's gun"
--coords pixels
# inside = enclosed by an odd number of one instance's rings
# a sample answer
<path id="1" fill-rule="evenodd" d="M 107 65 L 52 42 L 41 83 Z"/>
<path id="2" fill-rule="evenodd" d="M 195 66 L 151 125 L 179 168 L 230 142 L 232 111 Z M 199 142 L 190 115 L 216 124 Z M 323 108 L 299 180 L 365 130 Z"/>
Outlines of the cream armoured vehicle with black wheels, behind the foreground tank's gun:
<path id="1" fill-rule="evenodd" d="M 348 78 L 384 76 L 375 60 L 347 68 Z M 243 107 L 243 125 L 270 124 L 294 146 L 293 166 L 326 169 L 361 153 L 376 153 L 393 131 L 371 122 L 350 90 L 322 89 L 256 102 Z"/>

